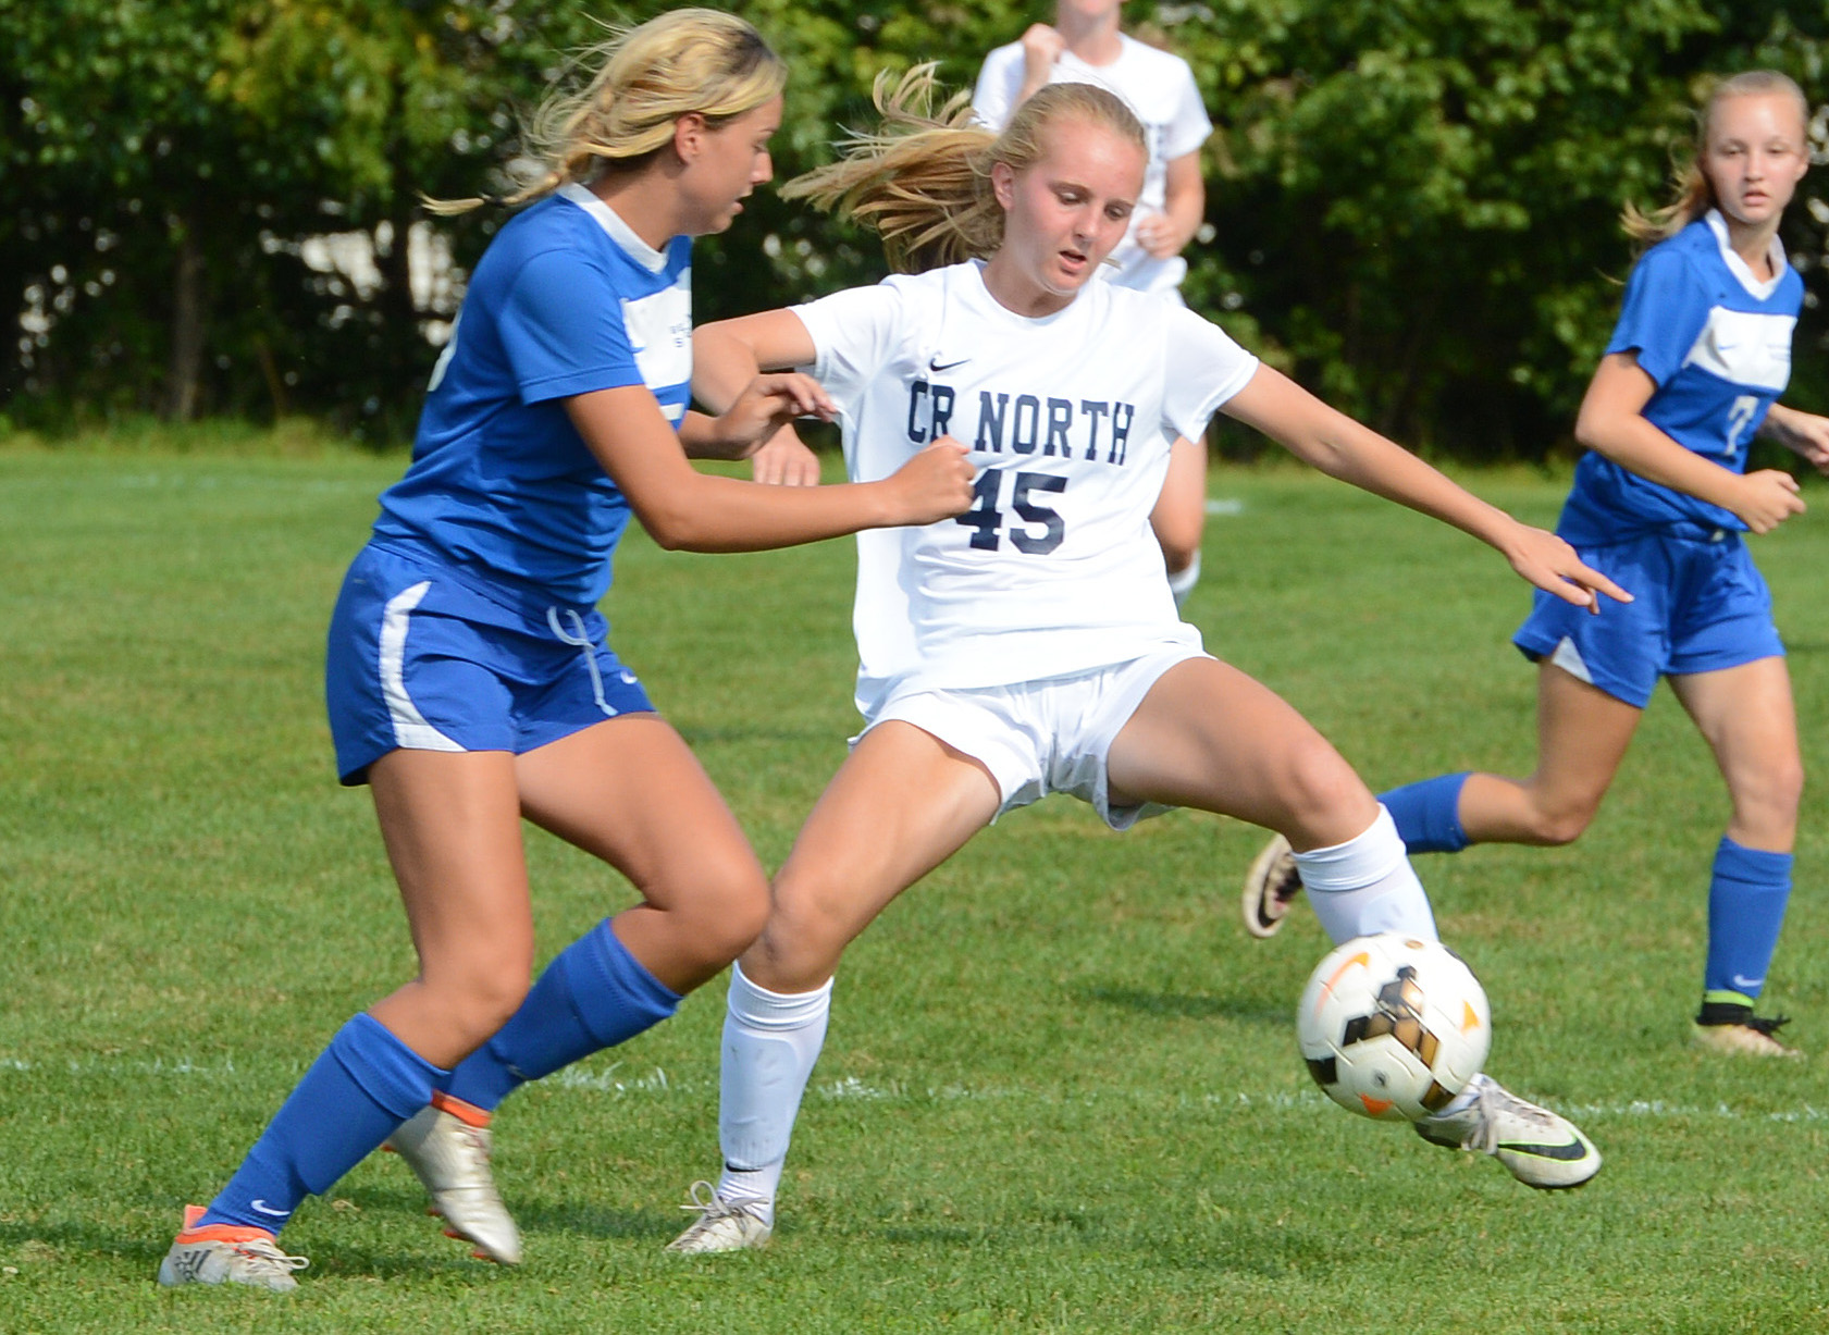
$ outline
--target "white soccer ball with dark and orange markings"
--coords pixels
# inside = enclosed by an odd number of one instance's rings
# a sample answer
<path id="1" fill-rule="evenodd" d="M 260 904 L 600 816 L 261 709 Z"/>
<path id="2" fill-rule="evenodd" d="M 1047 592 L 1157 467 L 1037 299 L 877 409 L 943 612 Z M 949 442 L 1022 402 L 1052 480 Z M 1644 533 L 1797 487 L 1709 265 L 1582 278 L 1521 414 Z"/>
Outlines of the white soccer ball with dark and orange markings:
<path id="1" fill-rule="evenodd" d="M 1295 1013 L 1315 1084 L 1381 1121 L 1439 1112 L 1492 1046 L 1485 989 L 1441 942 L 1359 936 L 1315 966 Z"/>

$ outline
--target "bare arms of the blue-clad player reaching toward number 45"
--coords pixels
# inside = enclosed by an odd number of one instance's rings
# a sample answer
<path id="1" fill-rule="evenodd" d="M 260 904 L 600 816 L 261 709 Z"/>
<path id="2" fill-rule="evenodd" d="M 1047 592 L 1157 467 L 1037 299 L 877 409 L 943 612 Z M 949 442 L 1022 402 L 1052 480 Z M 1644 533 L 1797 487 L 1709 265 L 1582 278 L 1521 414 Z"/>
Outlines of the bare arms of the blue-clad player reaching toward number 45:
<path id="1" fill-rule="evenodd" d="M 752 377 L 721 415 L 766 421 L 779 386 Z M 799 377 L 805 379 L 805 377 Z M 646 386 L 565 400 L 591 454 L 629 497 L 657 543 L 691 552 L 754 552 L 860 529 L 933 523 L 971 505 L 971 465 L 957 441 L 935 443 L 880 483 L 759 486 L 695 472 Z"/>

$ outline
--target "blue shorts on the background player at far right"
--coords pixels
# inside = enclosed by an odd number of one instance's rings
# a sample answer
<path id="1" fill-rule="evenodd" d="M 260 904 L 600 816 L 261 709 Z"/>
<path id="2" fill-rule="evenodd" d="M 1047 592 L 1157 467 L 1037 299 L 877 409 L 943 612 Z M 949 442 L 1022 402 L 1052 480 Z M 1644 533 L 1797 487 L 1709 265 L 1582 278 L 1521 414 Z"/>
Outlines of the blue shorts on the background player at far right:
<path id="1" fill-rule="evenodd" d="M 1577 549 L 1633 596 L 1600 598 L 1600 614 L 1538 591 L 1511 636 L 1525 657 L 1549 658 L 1613 699 L 1644 708 L 1659 677 L 1710 673 L 1781 658 L 1772 594 L 1738 532 L 1655 534 Z"/>

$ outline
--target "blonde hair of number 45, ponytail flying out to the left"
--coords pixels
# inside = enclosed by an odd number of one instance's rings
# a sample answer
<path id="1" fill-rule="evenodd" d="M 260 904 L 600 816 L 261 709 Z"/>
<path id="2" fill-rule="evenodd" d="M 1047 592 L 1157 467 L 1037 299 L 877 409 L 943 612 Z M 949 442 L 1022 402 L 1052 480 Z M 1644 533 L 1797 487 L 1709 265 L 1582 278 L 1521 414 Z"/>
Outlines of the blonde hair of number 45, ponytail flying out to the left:
<path id="1" fill-rule="evenodd" d="M 1055 121 L 1110 130 L 1149 154 L 1136 113 L 1094 84 L 1048 84 L 995 135 L 971 119 L 971 93 L 953 93 L 935 110 L 938 91 L 931 62 L 893 88 L 891 73 L 878 73 L 871 97 L 882 124 L 852 132 L 836 163 L 794 177 L 781 194 L 871 227 L 896 272 L 922 272 L 997 252 L 1004 210 L 991 190 L 991 166 L 1033 166 L 1043 130 Z"/>

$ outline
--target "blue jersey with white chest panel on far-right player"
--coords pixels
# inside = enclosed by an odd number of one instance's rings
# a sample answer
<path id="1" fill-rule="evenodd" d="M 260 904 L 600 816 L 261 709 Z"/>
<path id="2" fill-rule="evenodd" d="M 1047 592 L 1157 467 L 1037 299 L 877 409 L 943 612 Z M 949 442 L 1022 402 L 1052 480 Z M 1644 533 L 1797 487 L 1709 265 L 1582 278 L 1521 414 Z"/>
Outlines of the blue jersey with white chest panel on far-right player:
<path id="1" fill-rule="evenodd" d="M 1791 333 L 1803 280 L 1772 241 L 1769 280 L 1728 245 L 1710 210 L 1644 252 L 1626 282 L 1626 302 L 1608 353 L 1635 351 L 1657 382 L 1644 417 L 1679 444 L 1723 468 L 1745 472 L 1747 444 L 1791 379 Z M 1639 477 L 1599 454 L 1575 470 L 1575 490 L 1556 532 L 1577 547 L 1648 532 L 1745 530 L 1738 516 Z"/>

